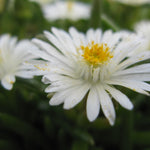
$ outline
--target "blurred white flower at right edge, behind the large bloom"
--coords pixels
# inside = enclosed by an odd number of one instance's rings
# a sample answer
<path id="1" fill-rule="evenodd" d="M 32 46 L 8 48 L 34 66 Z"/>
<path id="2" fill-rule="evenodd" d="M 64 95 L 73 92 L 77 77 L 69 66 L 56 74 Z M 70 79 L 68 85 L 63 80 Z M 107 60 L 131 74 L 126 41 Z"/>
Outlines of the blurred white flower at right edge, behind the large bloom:
<path id="1" fill-rule="evenodd" d="M 150 21 L 140 21 L 134 27 L 137 34 L 143 36 L 147 42 L 145 43 L 145 50 L 150 50 Z"/>

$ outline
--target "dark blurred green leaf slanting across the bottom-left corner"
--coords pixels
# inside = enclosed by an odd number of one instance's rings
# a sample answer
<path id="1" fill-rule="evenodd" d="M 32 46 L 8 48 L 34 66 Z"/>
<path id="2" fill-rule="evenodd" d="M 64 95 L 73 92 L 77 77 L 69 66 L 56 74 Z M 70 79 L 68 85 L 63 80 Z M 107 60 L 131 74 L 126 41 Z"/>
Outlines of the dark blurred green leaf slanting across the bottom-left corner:
<path id="1" fill-rule="evenodd" d="M 0 113 L 0 127 L 18 134 L 29 143 L 34 143 L 41 147 L 46 144 L 46 140 L 39 130 L 14 116 Z"/>

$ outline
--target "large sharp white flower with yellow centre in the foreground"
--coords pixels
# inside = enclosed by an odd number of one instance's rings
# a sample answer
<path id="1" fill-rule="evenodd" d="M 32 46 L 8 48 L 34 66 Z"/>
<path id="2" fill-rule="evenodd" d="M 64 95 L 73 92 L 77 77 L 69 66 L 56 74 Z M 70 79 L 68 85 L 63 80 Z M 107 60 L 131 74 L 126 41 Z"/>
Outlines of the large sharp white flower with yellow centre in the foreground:
<path id="1" fill-rule="evenodd" d="M 100 107 L 111 125 L 115 122 L 114 98 L 122 107 L 131 110 L 132 102 L 115 85 L 149 95 L 150 64 L 141 62 L 150 58 L 150 52 L 140 54 L 135 51 L 140 39 L 121 40 L 121 34 L 111 30 L 89 29 L 86 34 L 70 28 L 69 33 L 52 28 L 52 33 L 44 32 L 51 44 L 39 39 L 33 42 L 39 50 L 32 52 L 46 61 L 35 66 L 43 72 L 42 81 L 50 84 L 45 92 L 52 93 L 50 105 L 64 103 L 64 109 L 71 109 L 87 97 L 86 112 L 94 121 Z M 133 66 L 134 65 L 134 66 Z"/>

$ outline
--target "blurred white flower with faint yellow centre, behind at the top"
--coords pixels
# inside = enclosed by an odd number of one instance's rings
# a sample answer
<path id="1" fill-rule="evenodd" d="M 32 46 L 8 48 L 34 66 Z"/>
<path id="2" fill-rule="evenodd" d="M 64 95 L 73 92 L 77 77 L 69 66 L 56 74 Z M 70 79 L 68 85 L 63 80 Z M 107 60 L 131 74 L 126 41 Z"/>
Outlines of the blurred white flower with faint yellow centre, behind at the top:
<path id="1" fill-rule="evenodd" d="M 58 1 L 42 7 L 44 16 L 49 21 L 59 19 L 79 20 L 90 17 L 90 5 L 81 2 Z"/>

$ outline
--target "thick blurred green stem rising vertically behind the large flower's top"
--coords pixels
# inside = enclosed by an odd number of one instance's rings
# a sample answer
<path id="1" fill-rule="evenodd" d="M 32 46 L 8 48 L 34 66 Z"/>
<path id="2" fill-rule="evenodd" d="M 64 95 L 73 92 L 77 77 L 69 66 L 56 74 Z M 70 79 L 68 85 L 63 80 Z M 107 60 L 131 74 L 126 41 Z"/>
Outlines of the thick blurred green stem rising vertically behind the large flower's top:
<path id="1" fill-rule="evenodd" d="M 90 26 L 98 28 L 101 26 L 102 0 L 93 0 Z"/>

